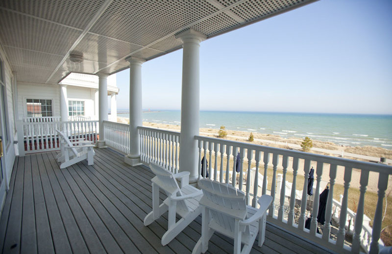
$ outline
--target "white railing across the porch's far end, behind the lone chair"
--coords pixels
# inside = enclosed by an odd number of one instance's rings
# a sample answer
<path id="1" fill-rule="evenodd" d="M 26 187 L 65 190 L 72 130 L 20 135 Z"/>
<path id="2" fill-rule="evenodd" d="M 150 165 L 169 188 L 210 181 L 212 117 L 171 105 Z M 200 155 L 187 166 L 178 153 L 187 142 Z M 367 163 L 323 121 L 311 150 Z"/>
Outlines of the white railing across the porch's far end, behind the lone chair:
<path id="1" fill-rule="evenodd" d="M 69 137 L 98 141 L 98 121 L 73 122 L 22 122 L 18 124 L 18 142 L 20 154 L 43 152 L 59 149 L 56 129 L 67 133 Z"/>

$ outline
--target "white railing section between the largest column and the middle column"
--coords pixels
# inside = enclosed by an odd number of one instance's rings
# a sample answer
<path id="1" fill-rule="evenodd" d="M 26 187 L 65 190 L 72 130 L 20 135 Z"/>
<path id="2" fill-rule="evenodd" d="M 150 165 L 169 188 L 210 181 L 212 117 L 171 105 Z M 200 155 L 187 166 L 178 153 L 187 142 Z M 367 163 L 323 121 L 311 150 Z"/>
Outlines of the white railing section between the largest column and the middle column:
<path id="1" fill-rule="evenodd" d="M 149 127 L 138 127 L 141 146 L 141 162 L 157 163 L 178 173 L 180 133 Z"/>

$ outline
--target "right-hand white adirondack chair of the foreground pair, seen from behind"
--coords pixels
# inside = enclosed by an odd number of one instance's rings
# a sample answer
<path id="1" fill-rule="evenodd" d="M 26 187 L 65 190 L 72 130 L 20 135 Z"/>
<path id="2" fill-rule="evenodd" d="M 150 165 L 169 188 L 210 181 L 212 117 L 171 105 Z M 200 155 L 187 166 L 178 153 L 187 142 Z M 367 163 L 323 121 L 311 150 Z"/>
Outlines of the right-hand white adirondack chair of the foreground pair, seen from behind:
<path id="1" fill-rule="evenodd" d="M 234 239 L 234 254 L 248 254 L 257 233 L 259 247 L 264 243 L 267 209 L 272 197 L 263 195 L 259 209 L 247 206 L 245 194 L 231 185 L 208 179 L 200 179 L 198 187 L 203 191 L 201 237 L 193 249 L 193 254 L 205 253 L 208 241 L 215 231 Z M 244 244 L 241 250 L 241 243 Z"/>

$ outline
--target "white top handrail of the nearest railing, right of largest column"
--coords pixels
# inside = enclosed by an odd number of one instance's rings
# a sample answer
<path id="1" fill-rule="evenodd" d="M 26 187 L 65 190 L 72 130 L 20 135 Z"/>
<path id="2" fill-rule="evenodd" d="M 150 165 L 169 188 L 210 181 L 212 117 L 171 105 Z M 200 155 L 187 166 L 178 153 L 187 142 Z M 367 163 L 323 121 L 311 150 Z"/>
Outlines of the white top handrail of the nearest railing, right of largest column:
<path id="1" fill-rule="evenodd" d="M 220 138 L 212 138 L 206 136 L 195 136 L 196 140 L 206 140 L 212 141 L 216 143 L 220 143 L 223 145 L 230 145 L 237 148 L 245 148 L 245 149 L 253 149 L 253 150 L 262 150 L 269 153 L 278 153 L 280 155 L 286 155 L 290 157 L 297 157 L 298 159 L 310 160 L 310 161 L 318 161 L 326 164 L 334 164 L 344 167 L 352 167 L 355 169 L 362 169 L 368 170 L 373 172 L 385 173 L 385 174 L 392 174 L 392 167 L 386 164 L 381 163 L 372 163 L 372 162 L 365 162 L 365 161 L 354 161 L 346 158 L 339 158 L 333 157 L 328 155 L 321 155 L 321 154 L 313 154 L 303 151 L 296 151 L 296 150 L 289 150 L 284 148 L 273 148 L 267 147 L 262 145 L 254 145 L 254 144 L 247 144 L 238 141 L 231 141 L 225 140 Z"/>

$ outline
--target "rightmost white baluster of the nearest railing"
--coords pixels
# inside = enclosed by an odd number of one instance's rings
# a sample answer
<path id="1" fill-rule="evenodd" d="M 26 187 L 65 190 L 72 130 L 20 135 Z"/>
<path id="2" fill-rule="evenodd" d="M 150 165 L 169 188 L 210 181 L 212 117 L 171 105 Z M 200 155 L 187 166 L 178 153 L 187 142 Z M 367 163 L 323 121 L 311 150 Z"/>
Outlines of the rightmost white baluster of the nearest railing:
<path id="1" fill-rule="evenodd" d="M 385 190 L 388 186 L 388 174 L 380 173 L 378 176 L 378 199 L 376 211 L 374 212 L 373 230 L 371 233 L 371 243 L 369 254 L 378 254 L 378 240 L 380 239 L 381 224 L 383 216 L 383 200 L 385 197 Z"/>

